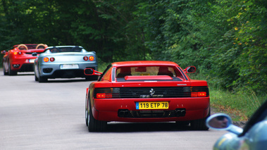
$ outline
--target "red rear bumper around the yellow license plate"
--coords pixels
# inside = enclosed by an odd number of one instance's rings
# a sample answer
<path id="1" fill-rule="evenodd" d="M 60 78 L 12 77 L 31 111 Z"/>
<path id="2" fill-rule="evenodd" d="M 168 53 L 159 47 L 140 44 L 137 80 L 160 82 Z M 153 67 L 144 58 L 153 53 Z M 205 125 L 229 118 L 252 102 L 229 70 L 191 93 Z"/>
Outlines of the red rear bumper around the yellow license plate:
<path id="1" fill-rule="evenodd" d="M 137 110 L 139 101 L 168 101 L 168 110 Z M 97 120 L 120 122 L 187 121 L 205 118 L 209 97 L 168 99 L 94 99 L 92 113 Z M 185 110 L 185 111 L 183 111 Z M 125 113 L 125 114 L 123 114 Z"/>

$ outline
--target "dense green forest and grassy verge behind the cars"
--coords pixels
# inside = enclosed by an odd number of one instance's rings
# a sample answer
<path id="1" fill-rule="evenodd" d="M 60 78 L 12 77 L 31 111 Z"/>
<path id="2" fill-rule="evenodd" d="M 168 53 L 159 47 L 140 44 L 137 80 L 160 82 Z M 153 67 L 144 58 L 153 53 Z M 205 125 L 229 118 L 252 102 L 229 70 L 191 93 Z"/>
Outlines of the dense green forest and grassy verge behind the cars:
<path id="1" fill-rule="evenodd" d="M 266 0 L 0 0 L 0 50 L 31 43 L 194 65 L 214 107 L 254 107 L 244 120 L 266 99 Z"/>

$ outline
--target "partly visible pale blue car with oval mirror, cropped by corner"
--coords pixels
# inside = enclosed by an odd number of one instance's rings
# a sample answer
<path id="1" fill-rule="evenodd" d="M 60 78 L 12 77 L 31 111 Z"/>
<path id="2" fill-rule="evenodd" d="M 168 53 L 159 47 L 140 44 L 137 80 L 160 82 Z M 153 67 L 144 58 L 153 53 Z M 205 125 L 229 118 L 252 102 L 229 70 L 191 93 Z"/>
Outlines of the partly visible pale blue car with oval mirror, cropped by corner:
<path id="1" fill-rule="evenodd" d="M 252 115 L 244 129 L 232 125 L 229 115 L 216 113 L 206 120 L 213 130 L 228 130 L 220 137 L 213 149 L 267 149 L 267 100 Z"/>

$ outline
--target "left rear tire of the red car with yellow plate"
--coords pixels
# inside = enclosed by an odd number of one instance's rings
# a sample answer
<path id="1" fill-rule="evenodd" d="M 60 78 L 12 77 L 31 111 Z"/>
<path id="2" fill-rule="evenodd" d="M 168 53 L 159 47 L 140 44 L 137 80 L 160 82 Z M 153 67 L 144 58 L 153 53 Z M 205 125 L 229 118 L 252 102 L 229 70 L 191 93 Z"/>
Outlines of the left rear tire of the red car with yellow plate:
<path id="1" fill-rule="evenodd" d="M 106 121 L 96 120 L 89 108 L 88 131 L 89 132 L 104 132 L 107 129 L 108 123 Z"/>

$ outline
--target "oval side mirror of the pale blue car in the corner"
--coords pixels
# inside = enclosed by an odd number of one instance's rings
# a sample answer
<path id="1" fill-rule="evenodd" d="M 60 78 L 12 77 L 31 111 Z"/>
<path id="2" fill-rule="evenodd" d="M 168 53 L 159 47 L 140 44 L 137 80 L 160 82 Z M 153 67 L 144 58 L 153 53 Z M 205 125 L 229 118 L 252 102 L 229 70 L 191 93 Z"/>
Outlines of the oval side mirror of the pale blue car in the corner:
<path id="1" fill-rule="evenodd" d="M 206 119 L 206 126 L 213 130 L 228 130 L 229 132 L 240 135 L 243 132 L 241 127 L 232 125 L 232 119 L 225 113 L 216 113 Z"/>

